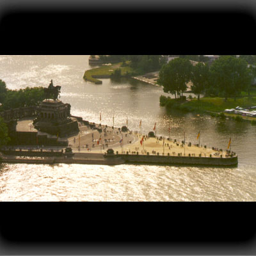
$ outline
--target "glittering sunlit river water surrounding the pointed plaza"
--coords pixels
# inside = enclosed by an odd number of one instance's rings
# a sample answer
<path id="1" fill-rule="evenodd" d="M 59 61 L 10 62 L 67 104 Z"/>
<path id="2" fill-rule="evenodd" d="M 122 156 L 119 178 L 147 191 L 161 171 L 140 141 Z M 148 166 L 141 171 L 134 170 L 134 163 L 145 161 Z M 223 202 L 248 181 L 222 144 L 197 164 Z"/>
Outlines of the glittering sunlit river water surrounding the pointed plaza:
<path id="1" fill-rule="evenodd" d="M 152 131 L 207 147 L 227 148 L 238 155 L 236 168 L 152 165 L 1 164 L 1 201 L 255 201 L 256 127 L 247 122 L 219 120 L 196 113 L 166 111 L 159 106 L 163 89 L 139 81 L 83 80 L 90 69 L 83 56 L 0 56 L 0 79 L 10 89 L 61 85 L 61 100 L 72 115 L 132 131 Z M 189 94 L 188 94 L 189 95 Z"/>

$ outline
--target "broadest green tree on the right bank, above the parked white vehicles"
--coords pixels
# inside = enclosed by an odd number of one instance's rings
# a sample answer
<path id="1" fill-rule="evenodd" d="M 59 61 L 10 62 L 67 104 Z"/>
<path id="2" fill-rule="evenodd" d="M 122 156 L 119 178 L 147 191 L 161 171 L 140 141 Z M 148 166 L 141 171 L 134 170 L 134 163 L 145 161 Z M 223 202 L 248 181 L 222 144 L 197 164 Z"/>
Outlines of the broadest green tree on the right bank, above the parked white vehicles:
<path id="1" fill-rule="evenodd" d="M 234 56 L 221 56 L 212 63 L 210 68 L 212 85 L 218 88 L 219 93 L 223 93 L 225 100 L 228 97 L 236 97 L 250 83 L 247 63 L 241 58 Z"/>

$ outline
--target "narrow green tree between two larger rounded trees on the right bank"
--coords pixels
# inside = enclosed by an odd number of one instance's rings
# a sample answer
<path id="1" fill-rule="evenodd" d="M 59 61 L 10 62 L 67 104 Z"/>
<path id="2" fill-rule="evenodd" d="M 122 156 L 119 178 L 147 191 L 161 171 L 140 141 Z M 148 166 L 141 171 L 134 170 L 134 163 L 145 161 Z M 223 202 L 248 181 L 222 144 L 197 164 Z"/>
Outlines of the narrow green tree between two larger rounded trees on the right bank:
<path id="1" fill-rule="evenodd" d="M 209 83 L 209 67 L 207 64 L 199 62 L 192 68 L 191 82 L 193 83 L 191 90 L 200 100 L 200 94 L 205 92 Z"/>

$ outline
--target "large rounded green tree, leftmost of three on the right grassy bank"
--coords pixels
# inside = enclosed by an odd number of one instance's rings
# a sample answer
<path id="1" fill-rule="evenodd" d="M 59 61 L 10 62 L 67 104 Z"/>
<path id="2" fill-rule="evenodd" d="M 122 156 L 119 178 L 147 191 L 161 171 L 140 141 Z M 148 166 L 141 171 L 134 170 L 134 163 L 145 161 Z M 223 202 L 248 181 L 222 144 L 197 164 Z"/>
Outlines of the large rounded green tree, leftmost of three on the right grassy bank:
<path id="1" fill-rule="evenodd" d="M 164 87 L 164 92 L 172 93 L 179 99 L 187 89 L 191 79 L 192 64 L 186 58 L 176 58 L 163 65 L 159 72 L 158 83 Z"/>

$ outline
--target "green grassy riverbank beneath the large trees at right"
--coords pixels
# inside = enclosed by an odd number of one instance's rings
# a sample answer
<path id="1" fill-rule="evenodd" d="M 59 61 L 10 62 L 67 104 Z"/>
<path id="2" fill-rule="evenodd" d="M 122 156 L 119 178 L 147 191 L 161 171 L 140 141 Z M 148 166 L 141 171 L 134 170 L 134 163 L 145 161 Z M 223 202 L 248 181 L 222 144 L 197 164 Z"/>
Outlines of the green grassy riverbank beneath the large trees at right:
<path id="1" fill-rule="evenodd" d="M 227 101 L 225 101 L 224 98 L 220 97 L 202 97 L 200 100 L 188 99 L 184 102 L 180 102 L 163 95 L 160 97 L 160 106 L 165 106 L 167 109 L 179 109 L 186 112 L 205 113 L 212 116 L 229 116 L 237 121 L 246 120 L 252 122 L 256 120 L 256 118 L 223 113 L 223 111 L 225 111 L 225 109 L 236 108 L 237 106 L 240 106 L 241 108 L 250 108 L 255 105 L 256 97 L 242 97 L 236 101 L 234 99 L 227 99 Z"/>

